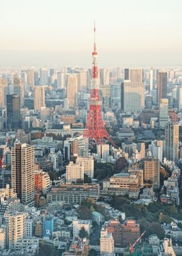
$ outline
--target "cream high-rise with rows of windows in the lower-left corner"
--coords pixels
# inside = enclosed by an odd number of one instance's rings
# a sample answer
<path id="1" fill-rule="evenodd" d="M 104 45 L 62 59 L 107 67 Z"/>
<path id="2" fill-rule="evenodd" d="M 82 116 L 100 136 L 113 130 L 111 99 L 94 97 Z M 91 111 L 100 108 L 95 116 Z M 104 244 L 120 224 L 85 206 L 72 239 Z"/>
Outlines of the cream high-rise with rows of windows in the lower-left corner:
<path id="1" fill-rule="evenodd" d="M 8 249 L 15 249 L 16 243 L 21 242 L 25 236 L 25 219 L 27 214 L 16 212 L 5 213 L 6 221 L 6 244 Z"/>

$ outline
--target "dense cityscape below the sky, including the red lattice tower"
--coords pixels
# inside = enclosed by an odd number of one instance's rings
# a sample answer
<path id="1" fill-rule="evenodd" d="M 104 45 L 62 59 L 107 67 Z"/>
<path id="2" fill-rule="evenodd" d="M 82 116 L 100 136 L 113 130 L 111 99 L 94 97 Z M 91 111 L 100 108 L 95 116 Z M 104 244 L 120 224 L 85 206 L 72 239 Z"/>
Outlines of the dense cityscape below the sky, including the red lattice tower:
<path id="1" fill-rule="evenodd" d="M 182 255 L 182 68 L 0 66 L 0 255 Z M 94 45 L 92 46 L 94 42 Z"/>

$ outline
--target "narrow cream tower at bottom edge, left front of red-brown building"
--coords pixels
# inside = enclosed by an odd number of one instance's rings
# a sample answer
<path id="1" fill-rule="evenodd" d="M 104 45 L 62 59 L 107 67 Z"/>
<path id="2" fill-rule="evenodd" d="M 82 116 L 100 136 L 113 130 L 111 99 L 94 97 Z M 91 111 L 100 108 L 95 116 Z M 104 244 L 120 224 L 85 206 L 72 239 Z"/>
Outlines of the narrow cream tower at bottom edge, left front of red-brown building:
<path id="1" fill-rule="evenodd" d="M 114 253 L 114 239 L 112 237 L 112 233 L 107 232 L 107 229 L 101 229 L 101 237 L 100 237 L 100 253 Z"/>

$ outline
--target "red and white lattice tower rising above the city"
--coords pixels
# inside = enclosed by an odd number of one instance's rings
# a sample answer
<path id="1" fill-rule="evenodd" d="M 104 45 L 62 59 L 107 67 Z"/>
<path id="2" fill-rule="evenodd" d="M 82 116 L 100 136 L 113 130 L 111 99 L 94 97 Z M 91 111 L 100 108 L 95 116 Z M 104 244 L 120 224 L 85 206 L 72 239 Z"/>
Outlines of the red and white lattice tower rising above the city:
<path id="1" fill-rule="evenodd" d="M 106 138 L 113 146 L 114 142 L 105 129 L 101 116 L 101 100 L 98 86 L 98 52 L 96 51 L 96 26 L 94 24 L 94 52 L 92 52 L 92 85 L 90 89 L 88 118 L 83 136 L 92 138 L 97 144 L 102 144 Z"/>

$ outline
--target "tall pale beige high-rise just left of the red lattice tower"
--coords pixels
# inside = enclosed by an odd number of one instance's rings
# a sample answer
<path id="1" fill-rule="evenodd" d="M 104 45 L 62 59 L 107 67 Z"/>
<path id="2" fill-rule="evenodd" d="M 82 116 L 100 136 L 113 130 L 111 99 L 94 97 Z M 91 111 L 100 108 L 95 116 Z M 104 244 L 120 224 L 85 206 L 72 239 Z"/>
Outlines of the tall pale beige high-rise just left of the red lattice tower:
<path id="1" fill-rule="evenodd" d="M 70 108 L 75 108 L 77 106 L 77 93 L 78 93 L 78 79 L 77 74 L 67 75 L 67 98 L 69 100 Z"/>

